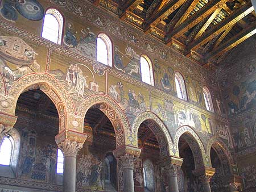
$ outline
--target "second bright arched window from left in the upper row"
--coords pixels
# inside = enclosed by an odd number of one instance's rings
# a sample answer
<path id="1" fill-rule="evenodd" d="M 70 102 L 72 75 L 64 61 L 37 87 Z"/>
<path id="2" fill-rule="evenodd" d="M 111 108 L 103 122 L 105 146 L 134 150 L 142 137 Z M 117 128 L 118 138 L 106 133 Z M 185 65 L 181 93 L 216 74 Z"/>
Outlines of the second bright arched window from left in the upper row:
<path id="1" fill-rule="evenodd" d="M 97 61 L 112 66 L 112 42 L 106 34 L 97 37 Z"/>

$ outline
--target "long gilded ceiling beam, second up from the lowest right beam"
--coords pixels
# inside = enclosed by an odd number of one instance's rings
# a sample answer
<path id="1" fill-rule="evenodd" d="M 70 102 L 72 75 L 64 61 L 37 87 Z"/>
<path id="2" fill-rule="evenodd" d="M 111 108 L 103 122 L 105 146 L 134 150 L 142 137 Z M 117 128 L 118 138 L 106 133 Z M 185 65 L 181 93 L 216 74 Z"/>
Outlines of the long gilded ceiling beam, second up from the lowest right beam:
<path id="1" fill-rule="evenodd" d="M 184 54 L 187 55 L 191 51 L 191 49 L 196 50 L 201 45 L 204 45 L 209 40 L 213 39 L 215 36 L 225 31 L 226 28 L 233 26 L 239 20 L 244 18 L 246 15 L 250 14 L 250 12 L 252 12 L 253 10 L 254 9 L 251 3 L 250 2 L 246 3 L 240 9 L 234 11 L 232 15 L 229 15 L 224 20 L 222 20 L 222 22 L 218 23 L 209 31 L 205 32 L 205 34 L 201 35 L 199 38 L 189 43 L 185 48 Z"/>

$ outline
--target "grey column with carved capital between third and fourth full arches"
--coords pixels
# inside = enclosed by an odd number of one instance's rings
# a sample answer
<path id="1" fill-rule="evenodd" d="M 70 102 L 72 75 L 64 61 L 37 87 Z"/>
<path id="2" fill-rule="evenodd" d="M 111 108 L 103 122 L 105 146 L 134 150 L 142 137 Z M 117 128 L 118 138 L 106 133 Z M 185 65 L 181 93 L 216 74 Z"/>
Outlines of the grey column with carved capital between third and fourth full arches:
<path id="1" fill-rule="evenodd" d="M 168 156 L 160 160 L 162 169 L 164 170 L 166 176 L 168 177 L 168 191 L 169 192 L 179 192 L 179 186 L 177 181 L 177 171 L 182 165 L 182 158 Z"/>

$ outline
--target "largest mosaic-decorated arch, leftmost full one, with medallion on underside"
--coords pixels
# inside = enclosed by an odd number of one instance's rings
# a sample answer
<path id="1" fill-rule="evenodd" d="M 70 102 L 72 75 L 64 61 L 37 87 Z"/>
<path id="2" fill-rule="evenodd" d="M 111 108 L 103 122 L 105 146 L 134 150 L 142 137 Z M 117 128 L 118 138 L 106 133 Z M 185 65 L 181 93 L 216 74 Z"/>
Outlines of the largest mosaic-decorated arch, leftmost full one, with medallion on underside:
<path id="1" fill-rule="evenodd" d="M 63 130 L 66 127 L 68 115 L 75 113 L 75 107 L 67 90 L 47 73 L 28 74 L 16 81 L 7 93 L 7 102 L 10 101 L 14 105 L 6 112 L 14 115 L 20 94 L 32 89 L 42 90 L 52 100 L 58 111 L 60 130 Z"/>

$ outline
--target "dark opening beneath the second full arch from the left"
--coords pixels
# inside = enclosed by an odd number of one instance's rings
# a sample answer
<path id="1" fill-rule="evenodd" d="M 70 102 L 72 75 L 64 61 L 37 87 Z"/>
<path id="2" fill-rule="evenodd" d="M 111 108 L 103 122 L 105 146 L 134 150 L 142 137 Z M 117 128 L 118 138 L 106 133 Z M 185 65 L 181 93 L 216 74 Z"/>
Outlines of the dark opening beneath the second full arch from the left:
<path id="1" fill-rule="evenodd" d="M 77 156 L 77 187 L 116 191 L 117 160 L 112 153 L 116 146 L 115 130 L 100 105 L 94 105 L 86 112 L 84 132 L 88 138 Z"/>

